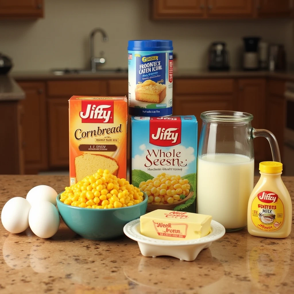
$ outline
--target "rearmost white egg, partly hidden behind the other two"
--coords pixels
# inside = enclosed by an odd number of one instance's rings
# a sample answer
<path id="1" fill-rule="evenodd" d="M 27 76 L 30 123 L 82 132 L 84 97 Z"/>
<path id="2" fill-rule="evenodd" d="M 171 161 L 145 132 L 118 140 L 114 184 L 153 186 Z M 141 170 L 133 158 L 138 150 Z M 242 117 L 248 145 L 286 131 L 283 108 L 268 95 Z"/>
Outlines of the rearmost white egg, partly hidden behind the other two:
<path id="1" fill-rule="evenodd" d="M 40 185 L 32 188 L 27 194 L 26 194 L 26 200 L 33 205 L 34 203 L 40 202 L 40 201 L 49 201 L 52 204 L 56 205 L 56 197 L 57 192 L 46 185 Z"/>

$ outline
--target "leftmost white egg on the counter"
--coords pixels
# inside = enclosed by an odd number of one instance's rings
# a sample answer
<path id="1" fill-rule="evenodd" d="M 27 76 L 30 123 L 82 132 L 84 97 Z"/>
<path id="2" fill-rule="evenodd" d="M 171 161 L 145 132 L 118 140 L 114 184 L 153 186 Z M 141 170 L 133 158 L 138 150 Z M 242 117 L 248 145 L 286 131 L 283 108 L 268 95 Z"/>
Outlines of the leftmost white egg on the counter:
<path id="1" fill-rule="evenodd" d="M 3 206 L 1 222 L 10 233 L 18 234 L 29 227 L 29 211 L 31 204 L 22 197 L 9 199 Z"/>

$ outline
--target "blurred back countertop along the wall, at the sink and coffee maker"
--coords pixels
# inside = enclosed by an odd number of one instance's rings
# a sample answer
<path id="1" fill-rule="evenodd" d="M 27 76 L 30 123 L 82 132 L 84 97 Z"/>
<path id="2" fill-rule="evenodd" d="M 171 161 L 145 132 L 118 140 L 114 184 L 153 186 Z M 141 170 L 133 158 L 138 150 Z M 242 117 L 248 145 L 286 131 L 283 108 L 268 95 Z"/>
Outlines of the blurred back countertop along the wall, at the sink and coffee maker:
<path id="1" fill-rule="evenodd" d="M 56 76 L 50 71 L 13 71 L 11 74 L 16 80 L 62 80 L 62 79 L 98 79 L 98 78 L 128 78 L 128 73 L 97 72 L 95 74 L 65 74 Z M 270 71 L 206 71 L 206 70 L 178 70 L 173 74 L 174 78 L 236 78 L 236 77 L 272 77 L 286 80 L 294 80 L 294 71 L 270 72 Z"/>

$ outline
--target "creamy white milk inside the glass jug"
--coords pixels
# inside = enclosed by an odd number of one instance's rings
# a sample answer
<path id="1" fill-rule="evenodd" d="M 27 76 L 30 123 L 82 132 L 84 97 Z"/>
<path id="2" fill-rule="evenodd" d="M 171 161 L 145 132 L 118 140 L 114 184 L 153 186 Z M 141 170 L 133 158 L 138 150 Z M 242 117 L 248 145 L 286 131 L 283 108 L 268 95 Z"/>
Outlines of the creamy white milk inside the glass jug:
<path id="1" fill-rule="evenodd" d="M 197 163 L 197 213 L 208 214 L 226 229 L 247 225 L 254 160 L 238 154 L 203 155 Z"/>

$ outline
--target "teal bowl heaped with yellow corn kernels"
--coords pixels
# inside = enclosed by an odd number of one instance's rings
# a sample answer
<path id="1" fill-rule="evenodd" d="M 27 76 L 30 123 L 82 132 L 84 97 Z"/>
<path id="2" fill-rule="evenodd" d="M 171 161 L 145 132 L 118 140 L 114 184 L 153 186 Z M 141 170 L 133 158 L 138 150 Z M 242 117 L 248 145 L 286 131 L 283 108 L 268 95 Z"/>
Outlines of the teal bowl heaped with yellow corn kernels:
<path id="1" fill-rule="evenodd" d="M 123 227 L 146 213 L 148 196 L 126 179 L 99 169 L 82 181 L 65 187 L 57 196 L 64 223 L 91 240 L 110 240 L 123 235 Z"/>

